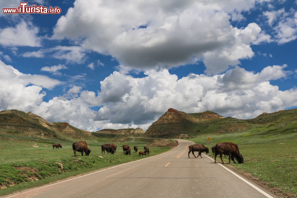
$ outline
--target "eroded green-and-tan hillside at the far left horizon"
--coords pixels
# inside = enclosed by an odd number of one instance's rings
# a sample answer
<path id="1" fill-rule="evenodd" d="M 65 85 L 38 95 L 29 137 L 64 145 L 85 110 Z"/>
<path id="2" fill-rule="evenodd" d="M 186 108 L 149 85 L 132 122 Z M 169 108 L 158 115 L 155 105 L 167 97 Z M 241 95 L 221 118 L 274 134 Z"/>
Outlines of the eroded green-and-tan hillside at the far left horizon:
<path id="1" fill-rule="evenodd" d="M 31 112 L 25 113 L 18 110 L 0 112 L 0 134 L 61 139 L 92 137 L 91 132 L 77 129 L 69 123 L 51 123 Z"/>

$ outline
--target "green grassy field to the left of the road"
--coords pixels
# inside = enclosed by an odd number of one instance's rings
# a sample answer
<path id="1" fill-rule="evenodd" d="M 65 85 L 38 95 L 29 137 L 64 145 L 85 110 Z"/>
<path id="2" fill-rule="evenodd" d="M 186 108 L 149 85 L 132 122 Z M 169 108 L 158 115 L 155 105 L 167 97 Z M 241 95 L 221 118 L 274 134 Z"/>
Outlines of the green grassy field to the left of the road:
<path id="1" fill-rule="evenodd" d="M 140 151 L 143 150 L 144 145 L 147 145 L 147 143 L 139 142 L 116 143 L 117 152 L 114 155 L 102 154 L 101 145 L 110 143 L 109 140 L 106 137 L 89 140 L 87 143 L 91 149 L 90 156 L 81 156 L 80 152 L 77 152 L 78 156 L 75 157 L 72 150 L 73 141 L 0 135 L 0 185 L 7 186 L 6 189 L 0 190 L 0 196 L 84 172 L 141 159 L 138 152 L 133 153 L 133 147 L 137 145 Z M 146 142 L 151 141 L 146 139 Z M 52 149 L 53 143 L 60 143 L 62 148 Z M 131 155 L 123 153 L 121 148 L 123 144 L 130 145 Z M 151 147 L 150 156 L 169 149 L 167 147 Z M 102 156 L 103 159 L 99 156 Z M 61 163 L 63 168 L 57 162 Z"/>

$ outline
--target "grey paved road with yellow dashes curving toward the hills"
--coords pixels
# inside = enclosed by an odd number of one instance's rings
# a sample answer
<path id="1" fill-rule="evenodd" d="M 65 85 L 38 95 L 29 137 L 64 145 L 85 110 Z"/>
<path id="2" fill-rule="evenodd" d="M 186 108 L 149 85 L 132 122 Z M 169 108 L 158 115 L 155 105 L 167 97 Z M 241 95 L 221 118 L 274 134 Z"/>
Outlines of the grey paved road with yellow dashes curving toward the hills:
<path id="1" fill-rule="evenodd" d="M 179 140 L 172 151 L 26 191 L 14 197 L 267 197 Z M 195 153 L 197 156 L 197 152 Z M 191 156 L 192 155 L 192 156 Z M 268 194 L 267 194 L 268 195 Z M 269 197 L 269 195 L 268 195 Z"/>

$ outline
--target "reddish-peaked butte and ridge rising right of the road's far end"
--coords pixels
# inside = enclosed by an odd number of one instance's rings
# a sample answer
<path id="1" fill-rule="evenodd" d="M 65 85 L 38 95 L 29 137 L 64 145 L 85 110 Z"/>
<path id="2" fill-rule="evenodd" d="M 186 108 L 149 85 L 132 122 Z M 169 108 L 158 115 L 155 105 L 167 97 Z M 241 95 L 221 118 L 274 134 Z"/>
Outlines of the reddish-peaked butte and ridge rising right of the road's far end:
<path id="1" fill-rule="evenodd" d="M 175 109 L 168 109 L 157 121 L 155 121 L 145 133 L 147 137 L 161 138 L 188 138 L 199 134 L 230 133 L 247 131 L 256 127 L 267 125 L 267 133 L 273 133 L 275 128 L 290 130 L 297 129 L 297 109 L 282 110 L 275 113 L 263 113 L 257 118 L 240 120 L 231 117 L 223 117 L 211 111 L 202 113 L 184 113 Z M 295 131 L 296 132 L 296 131 Z"/>

